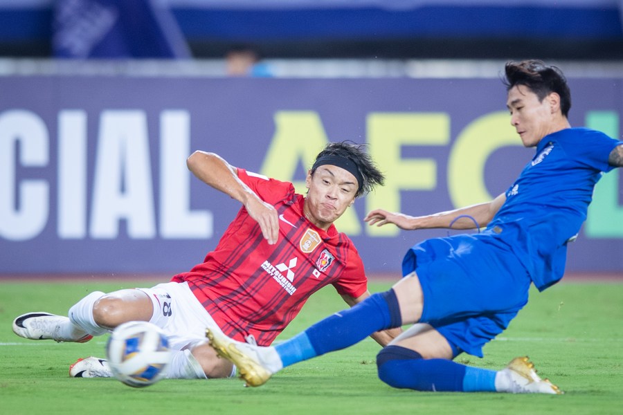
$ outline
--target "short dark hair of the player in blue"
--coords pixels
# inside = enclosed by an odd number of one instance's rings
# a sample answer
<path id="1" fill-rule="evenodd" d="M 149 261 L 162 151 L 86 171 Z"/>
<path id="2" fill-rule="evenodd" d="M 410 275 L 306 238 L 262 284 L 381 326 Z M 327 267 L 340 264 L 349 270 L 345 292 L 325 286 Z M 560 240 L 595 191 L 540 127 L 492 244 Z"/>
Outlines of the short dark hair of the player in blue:
<path id="1" fill-rule="evenodd" d="M 516 85 L 526 86 L 539 97 L 539 101 L 555 92 L 560 95 L 560 109 L 567 117 L 571 109 L 571 91 L 567 79 L 557 66 L 548 66 L 543 61 L 530 59 L 521 62 L 507 62 L 505 66 L 506 90 Z"/>

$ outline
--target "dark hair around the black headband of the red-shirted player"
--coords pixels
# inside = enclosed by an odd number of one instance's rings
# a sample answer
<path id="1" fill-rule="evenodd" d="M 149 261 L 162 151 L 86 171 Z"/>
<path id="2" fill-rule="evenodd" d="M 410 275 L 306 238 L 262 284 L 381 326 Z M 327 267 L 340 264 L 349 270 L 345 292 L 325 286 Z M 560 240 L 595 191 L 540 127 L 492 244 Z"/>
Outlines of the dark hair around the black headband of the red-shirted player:
<path id="1" fill-rule="evenodd" d="M 374 164 L 370 154 L 364 151 L 364 144 L 356 144 L 350 140 L 341 142 L 329 142 L 316 156 L 316 160 L 323 156 L 340 156 L 347 158 L 359 170 L 359 175 L 363 178 L 363 183 L 359 183 L 359 190 L 355 194 L 355 197 L 359 197 L 362 194 L 370 192 L 376 185 L 383 185 L 385 183 L 385 176 L 378 167 Z M 316 169 L 311 169 L 313 175 Z"/>

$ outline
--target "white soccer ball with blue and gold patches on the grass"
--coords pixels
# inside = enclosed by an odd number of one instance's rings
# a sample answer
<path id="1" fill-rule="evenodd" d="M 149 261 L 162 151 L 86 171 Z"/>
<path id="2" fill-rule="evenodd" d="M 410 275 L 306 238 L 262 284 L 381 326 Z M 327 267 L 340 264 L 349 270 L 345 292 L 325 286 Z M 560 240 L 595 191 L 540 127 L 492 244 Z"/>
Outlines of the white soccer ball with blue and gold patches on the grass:
<path id="1" fill-rule="evenodd" d="M 106 354 L 115 377 L 133 387 L 145 387 L 161 380 L 171 360 L 167 337 L 149 322 L 118 326 L 108 339 Z"/>

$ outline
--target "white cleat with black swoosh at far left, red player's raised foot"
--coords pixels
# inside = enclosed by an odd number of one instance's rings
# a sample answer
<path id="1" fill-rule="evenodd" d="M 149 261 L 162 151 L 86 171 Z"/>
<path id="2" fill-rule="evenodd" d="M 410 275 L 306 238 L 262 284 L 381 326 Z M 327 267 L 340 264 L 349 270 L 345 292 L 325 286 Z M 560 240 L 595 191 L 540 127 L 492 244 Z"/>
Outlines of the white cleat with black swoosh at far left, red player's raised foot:
<path id="1" fill-rule="evenodd" d="M 62 335 L 61 329 L 65 324 L 72 324 L 69 317 L 37 311 L 22 314 L 13 320 L 13 333 L 25 339 L 55 340 L 56 342 L 84 343 L 93 338 L 84 331 L 78 331 L 75 336 Z"/>

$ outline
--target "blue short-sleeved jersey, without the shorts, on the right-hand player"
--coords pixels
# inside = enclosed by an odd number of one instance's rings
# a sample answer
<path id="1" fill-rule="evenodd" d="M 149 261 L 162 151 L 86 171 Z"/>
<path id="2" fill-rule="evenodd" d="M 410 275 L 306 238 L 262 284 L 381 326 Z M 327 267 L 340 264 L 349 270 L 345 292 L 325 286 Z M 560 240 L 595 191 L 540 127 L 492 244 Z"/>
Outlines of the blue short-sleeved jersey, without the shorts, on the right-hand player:
<path id="1" fill-rule="evenodd" d="M 545 136 L 487 225 L 485 234 L 511 248 L 539 291 L 562 278 L 567 243 L 586 220 L 593 187 L 613 169 L 608 156 L 620 144 L 586 128 Z"/>

